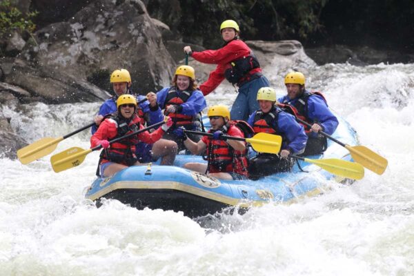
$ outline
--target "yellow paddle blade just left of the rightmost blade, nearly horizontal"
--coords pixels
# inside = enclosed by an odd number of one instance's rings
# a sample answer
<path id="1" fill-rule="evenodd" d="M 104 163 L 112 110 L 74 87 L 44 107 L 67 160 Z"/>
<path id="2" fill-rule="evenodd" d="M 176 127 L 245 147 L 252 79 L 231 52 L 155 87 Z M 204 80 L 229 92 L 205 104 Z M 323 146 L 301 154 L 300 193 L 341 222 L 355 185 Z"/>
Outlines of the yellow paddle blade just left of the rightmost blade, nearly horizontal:
<path id="1" fill-rule="evenodd" d="M 361 164 L 353 163 L 342 159 L 308 159 L 304 161 L 315 164 L 333 175 L 339 175 L 349 179 L 362 179 L 364 167 Z"/>

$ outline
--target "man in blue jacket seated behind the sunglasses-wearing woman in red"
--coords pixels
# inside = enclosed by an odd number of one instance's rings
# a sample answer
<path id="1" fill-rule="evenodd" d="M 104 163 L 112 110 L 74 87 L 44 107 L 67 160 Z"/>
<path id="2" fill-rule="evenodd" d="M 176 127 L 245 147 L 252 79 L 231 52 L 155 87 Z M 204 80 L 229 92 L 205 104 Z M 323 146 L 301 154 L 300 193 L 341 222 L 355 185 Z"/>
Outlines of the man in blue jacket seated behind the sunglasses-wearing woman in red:
<path id="1" fill-rule="evenodd" d="M 117 99 L 119 96 L 124 94 L 134 95 L 130 90 L 132 82 L 128 70 L 117 69 L 112 72 L 110 83 L 112 83 L 115 96 L 104 101 L 99 108 L 99 112 L 94 118 L 96 126 L 92 126 L 92 135 L 97 131 L 99 124 L 101 124 L 105 117 L 117 111 Z M 158 108 L 157 95 L 154 92 L 149 92 L 146 97 L 142 95 L 134 96 L 137 98 L 137 102 L 142 99 L 148 99 L 143 103 L 139 103 L 137 108 L 137 115 L 141 118 L 141 124 L 152 126 L 164 120 L 164 115 Z M 135 153 L 140 163 L 148 163 L 157 160 L 159 157 L 164 157 L 162 165 L 172 165 L 177 153 L 177 143 L 175 141 L 159 139 L 154 144 L 139 142 L 136 145 L 136 149 Z"/>

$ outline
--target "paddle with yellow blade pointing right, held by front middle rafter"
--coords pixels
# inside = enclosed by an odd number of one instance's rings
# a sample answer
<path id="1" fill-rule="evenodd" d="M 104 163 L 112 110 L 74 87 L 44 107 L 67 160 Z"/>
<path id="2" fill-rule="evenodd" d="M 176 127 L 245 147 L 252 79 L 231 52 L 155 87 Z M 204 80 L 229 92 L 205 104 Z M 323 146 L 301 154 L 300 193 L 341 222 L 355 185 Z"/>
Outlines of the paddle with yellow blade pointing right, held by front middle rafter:
<path id="1" fill-rule="evenodd" d="M 195 135 L 203 135 L 208 137 L 213 137 L 213 133 L 184 130 L 187 133 L 192 133 Z M 279 153 L 280 146 L 282 146 L 282 137 L 279 135 L 273 135 L 265 132 L 259 132 L 252 138 L 242 138 L 242 137 L 233 137 L 229 135 L 223 135 L 224 138 L 236 141 L 246 141 L 248 144 L 252 145 L 253 150 L 257 152 L 266 152 L 266 153 Z"/>

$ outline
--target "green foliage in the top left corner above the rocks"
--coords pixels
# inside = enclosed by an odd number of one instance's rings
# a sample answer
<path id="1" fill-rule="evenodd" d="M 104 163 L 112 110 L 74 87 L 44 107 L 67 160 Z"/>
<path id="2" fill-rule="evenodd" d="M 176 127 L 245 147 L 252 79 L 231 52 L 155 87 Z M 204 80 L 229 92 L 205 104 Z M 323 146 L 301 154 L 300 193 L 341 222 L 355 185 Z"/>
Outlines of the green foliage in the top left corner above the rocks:
<path id="1" fill-rule="evenodd" d="M 8 0 L 0 2 L 0 37 L 5 37 L 13 30 L 34 32 L 36 25 L 32 19 L 38 14 L 37 11 L 23 14 L 18 8 L 12 6 Z"/>

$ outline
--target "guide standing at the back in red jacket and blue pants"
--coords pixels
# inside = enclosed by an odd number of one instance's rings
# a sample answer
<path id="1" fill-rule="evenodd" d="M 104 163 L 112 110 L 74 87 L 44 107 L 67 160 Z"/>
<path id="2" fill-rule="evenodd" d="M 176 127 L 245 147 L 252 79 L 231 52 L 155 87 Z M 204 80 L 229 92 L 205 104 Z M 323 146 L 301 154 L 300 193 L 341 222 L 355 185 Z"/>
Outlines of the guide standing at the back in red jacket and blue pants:
<path id="1" fill-rule="evenodd" d="M 237 84 L 239 93 L 230 116 L 235 120 L 246 120 L 248 115 L 259 109 L 256 101 L 257 90 L 269 86 L 269 82 L 262 75 L 262 69 L 253 51 L 239 39 L 239 25 L 233 20 L 226 20 L 221 23 L 220 32 L 224 46 L 219 50 L 193 52 L 190 46 L 185 46 L 184 52 L 197 61 L 217 64 L 207 81 L 200 86 L 204 96 L 215 90 L 224 79 L 230 81 L 233 86 Z"/>

